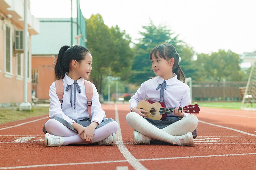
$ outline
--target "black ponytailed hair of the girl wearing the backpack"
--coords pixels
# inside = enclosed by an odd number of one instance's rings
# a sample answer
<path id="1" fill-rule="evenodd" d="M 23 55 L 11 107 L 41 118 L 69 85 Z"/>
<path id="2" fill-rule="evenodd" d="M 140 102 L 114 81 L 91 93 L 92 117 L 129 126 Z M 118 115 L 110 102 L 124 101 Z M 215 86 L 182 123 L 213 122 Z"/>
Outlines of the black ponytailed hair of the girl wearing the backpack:
<path id="1" fill-rule="evenodd" d="M 63 46 L 60 48 L 58 58 L 55 61 L 54 72 L 57 79 L 64 78 L 65 73 L 69 71 L 69 65 L 72 60 L 81 62 L 87 53 L 90 53 L 88 48 L 83 46 Z"/>

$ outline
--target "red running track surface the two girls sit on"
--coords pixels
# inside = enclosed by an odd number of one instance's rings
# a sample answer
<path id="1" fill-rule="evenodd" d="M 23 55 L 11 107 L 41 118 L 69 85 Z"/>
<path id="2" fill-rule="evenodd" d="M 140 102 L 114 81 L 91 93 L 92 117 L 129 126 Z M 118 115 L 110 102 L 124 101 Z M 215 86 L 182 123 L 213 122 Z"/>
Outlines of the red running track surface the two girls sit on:
<path id="1" fill-rule="evenodd" d="M 256 111 L 201 108 L 195 146 L 188 147 L 133 145 L 129 105 L 102 108 L 120 124 L 116 145 L 45 147 L 47 115 L 28 118 L 0 124 L 0 169 L 256 169 Z"/>

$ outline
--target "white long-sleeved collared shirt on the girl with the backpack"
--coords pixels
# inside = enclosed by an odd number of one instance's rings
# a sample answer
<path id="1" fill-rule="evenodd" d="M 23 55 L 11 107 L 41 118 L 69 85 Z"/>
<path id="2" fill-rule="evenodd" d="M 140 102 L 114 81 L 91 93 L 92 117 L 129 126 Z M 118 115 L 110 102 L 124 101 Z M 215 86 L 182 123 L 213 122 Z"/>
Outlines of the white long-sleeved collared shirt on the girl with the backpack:
<path id="1" fill-rule="evenodd" d="M 90 117 L 87 109 L 87 98 L 85 95 L 85 86 L 84 86 L 84 78 L 79 78 L 77 80 L 77 84 L 80 86 L 81 93 L 78 93 L 76 90 L 76 108 L 74 106 L 74 80 L 68 77 L 67 73 L 63 78 L 63 102 L 60 104 L 59 98 L 56 93 L 55 82 L 52 83 L 49 90 L 50 97 L 50 108 L 49 108 L 49 116 L 53 118 L 55 116 L 60 117 L 66 120 L 71 125 L 74 120 L 83 120 L 87 117 Z M 72 87 L 66 92 L 67 85 L 72 85 Z M 95 85 L 92 84 L 93 88 L 93 96 L 92 96 L 92 122 L 98 122 L 99 124 L 106 117 L 105 112 L 101 108 L 101 104 L 99 101 L 99 94 Z M 72 90 L 72 107 L 70 104 L 70 90 Z"/>

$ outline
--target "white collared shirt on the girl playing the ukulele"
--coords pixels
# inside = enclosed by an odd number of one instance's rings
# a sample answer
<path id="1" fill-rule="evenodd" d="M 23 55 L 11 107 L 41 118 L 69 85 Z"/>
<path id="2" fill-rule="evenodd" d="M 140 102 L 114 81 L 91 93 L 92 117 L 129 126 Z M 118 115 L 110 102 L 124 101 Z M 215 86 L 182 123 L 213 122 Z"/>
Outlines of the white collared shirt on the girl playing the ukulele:
<path id="1" fill-rule="evenodd" d="M 189 86 L 178 80 L 175 73 L 172 75 L 173 78 L 166 80 L 167 89 L 164 90 L 165 105 L 166 107 L 187 106 L 188 103 L 191 103 Z M 160 88 L 158 90 L 156 90 L 156 88 L 163 82 L 164 79 L 158 76 L 142 83 L 137 92 L 129 100 L 131 110 L 137 106 L 140 100 L 146 100 L 147 97 L 148 100 L 159 102 Z M 163 102 L 163 99 L 161 102 Z M 167 116 L 172 115 L 173 114 L 167 114 Z M 187 113 L 184 113 L 184 117 L 187 115 Z"/>

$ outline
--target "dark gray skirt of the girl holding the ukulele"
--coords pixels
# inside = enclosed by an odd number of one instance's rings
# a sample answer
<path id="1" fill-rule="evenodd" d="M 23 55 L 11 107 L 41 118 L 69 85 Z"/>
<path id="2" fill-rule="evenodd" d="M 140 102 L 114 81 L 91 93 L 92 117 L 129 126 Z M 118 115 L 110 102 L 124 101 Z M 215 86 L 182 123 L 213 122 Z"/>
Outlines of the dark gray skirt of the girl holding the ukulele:
<path id="1" fill-rule="evenodd" d="M 180 120 L 178 116 L 166 116 L 166 118 L 164 120 L 153 120 L 153 119 L 149 119 L 149 118 L 145 118 L 145 119 L 149 123 L 151 123 L 152 125 L 156 126 L 159 129 L 163 129 L 163 128 L 169 126 L 170 124 Z"/>

